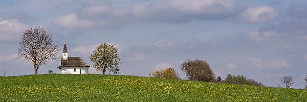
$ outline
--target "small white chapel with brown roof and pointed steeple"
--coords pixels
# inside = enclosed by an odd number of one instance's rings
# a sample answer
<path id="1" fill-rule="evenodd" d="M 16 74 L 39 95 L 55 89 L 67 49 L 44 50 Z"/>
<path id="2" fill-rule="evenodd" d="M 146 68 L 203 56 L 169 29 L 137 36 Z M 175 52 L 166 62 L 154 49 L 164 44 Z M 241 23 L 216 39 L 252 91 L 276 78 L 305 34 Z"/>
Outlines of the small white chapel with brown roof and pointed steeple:
<path id="1" fill-rule="evenodd" d="M 68 57 L 66 43 L 64 43 L 61 73 L 88 74 L 89 67 L 80 57 Z"/>

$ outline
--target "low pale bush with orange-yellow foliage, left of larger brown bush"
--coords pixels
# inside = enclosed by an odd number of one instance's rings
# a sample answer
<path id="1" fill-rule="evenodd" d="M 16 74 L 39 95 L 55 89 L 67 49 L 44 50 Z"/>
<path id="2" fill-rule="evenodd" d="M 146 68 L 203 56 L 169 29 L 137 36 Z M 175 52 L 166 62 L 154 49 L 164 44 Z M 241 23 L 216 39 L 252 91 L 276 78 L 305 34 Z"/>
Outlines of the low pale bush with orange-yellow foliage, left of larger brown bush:
<path id="1" fill-rule="evenodd" d="M 149 77 L 180 79 L 178 73 L 172 66 L 165 69 L 160 67 L 155 68 L 149 73 Z"/>

